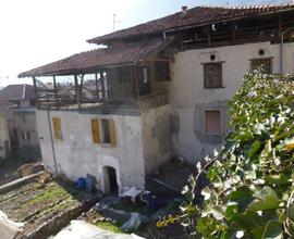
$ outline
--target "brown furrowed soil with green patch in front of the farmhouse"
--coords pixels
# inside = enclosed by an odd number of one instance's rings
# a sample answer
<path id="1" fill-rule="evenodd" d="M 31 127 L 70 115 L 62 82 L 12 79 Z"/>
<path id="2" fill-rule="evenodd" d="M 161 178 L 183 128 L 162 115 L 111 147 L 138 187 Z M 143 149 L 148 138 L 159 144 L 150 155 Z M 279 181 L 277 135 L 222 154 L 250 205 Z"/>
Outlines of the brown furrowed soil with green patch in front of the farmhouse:
<path id="1" fill-rule="evenodd" d="M 16 223 L 25 223 L 23 235 L 32 232 L 53 216 L 78 206 L 96 194 L 75 189 L 73 183 L 48 179 L 32 183 L 0 194 L 0 210 Z"/>

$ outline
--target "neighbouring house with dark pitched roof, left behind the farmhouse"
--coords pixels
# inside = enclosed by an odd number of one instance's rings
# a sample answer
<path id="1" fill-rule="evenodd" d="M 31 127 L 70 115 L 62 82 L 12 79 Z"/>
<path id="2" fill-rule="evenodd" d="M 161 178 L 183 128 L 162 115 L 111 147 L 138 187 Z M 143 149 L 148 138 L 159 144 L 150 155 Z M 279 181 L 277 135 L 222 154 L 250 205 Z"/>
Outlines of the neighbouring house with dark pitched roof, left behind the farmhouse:
<path id="1" fill-rule="evenodd" d="M 0 90 L 0 101 L 14 104 L 5 114 L 12 151 L 34 155 L 39 151 L 34 86 L 9 85 Z"/>

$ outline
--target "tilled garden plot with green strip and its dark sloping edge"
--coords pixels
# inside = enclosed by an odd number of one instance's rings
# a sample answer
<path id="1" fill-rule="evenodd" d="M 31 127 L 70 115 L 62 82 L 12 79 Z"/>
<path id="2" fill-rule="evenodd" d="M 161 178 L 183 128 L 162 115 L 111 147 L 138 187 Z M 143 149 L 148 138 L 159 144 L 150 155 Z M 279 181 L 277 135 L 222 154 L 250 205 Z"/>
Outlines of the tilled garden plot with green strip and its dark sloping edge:
<path id="1" fill-rule="evenodd" d="M 47 238 L 88 210 L 99 193 L 77 190 L 73 183 L 37 177 L 0 194 L 0 210 L 9 219 L 24 223 L 16 238 Z"/>

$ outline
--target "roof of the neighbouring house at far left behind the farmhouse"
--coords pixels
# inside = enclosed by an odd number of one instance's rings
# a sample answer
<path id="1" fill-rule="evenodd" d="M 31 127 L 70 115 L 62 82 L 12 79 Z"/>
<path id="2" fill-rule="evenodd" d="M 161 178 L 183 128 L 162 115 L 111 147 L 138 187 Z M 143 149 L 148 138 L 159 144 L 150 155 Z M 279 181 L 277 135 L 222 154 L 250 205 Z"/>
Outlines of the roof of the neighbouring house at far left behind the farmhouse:
<path id="1" fill-rule="evenodd" d="M 0 101 L 30 100 L 35 99 L 32 85 L 9 85 L 0 90 Z"/>

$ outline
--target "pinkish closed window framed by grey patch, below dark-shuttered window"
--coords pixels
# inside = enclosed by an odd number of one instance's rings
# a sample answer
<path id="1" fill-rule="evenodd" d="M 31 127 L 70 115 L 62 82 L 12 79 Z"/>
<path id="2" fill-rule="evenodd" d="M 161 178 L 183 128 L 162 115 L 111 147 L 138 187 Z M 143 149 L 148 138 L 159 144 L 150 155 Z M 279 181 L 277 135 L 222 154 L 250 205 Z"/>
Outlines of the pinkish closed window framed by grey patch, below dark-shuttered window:
<path id="1" fill-rule="evenodd" d="M 208 135 L 221 134 L 221 112 L 218 110 L 205 111 L 205 133 Z"/>

